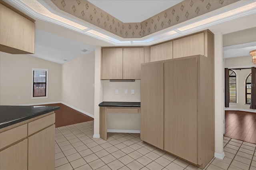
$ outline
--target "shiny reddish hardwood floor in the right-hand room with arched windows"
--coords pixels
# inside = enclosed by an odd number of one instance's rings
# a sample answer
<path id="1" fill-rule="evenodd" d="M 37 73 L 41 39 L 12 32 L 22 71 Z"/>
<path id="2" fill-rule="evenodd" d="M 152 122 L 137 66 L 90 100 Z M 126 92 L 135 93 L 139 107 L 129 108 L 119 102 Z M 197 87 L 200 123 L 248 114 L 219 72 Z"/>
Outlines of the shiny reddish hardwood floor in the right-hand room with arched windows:
<path id="1" fill-rule="evenodd" d="M 256 113 L 225 111 L 224 136 L 256 144 Z"/>

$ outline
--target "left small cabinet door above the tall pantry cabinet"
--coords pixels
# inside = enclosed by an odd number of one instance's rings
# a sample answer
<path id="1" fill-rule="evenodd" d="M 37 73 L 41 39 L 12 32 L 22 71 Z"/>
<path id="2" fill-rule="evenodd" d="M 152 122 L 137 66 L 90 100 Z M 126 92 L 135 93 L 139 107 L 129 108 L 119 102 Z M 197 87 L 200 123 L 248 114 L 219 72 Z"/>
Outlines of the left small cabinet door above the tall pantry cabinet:
<path id="1" fill-rule="evenodd" d="M 150 62 L 172 59 L 172 42 L 161 43 L 150 47 Z"/>

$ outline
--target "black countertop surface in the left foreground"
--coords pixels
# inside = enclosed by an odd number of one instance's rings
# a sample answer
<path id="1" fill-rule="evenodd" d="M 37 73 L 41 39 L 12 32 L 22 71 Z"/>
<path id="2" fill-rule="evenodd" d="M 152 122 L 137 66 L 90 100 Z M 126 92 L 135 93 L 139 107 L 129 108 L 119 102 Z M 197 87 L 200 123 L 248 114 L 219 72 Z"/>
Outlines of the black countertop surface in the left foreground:
<path id="1" fill-rule="evenodd" d="M 59 106 L 0 106 L 0 128 L 60 109 Z"/>

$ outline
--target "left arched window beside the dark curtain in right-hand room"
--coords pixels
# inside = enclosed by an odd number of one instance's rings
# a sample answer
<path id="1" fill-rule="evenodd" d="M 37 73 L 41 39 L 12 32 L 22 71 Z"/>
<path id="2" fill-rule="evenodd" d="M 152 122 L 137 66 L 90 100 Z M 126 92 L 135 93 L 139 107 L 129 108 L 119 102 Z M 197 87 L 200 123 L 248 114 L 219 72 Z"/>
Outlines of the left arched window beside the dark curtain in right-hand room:
<path id="1" fill-rule="evenodd" d="M 229 70 L 229 103 L 236 103 L 236 73 Z"/>

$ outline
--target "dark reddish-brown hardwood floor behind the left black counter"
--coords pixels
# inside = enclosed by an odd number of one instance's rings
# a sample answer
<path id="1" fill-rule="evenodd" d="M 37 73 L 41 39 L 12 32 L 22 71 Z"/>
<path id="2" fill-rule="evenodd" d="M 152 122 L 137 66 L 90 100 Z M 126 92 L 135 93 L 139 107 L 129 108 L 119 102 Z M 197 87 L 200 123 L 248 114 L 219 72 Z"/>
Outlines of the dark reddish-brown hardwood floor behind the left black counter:
<path id="1" fill-rule="evenodd" d="M 56 128 L 94 120 L 92 117 L 84 115 L 62 103 L 48 104 L 44 106 L 60 106 L 59 110 L 54 111 Z"/>

